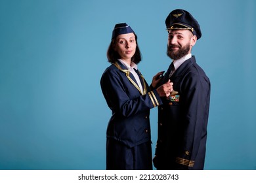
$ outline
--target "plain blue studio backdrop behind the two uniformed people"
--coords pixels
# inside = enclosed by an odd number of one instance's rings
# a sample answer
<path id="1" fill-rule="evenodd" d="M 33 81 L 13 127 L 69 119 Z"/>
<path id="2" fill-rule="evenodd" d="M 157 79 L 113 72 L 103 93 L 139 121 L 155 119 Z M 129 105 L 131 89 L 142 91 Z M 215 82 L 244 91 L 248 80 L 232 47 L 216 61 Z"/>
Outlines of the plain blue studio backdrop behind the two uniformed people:
<path id="1" fill-rule="evenodd" d="M 165 18 L 191 12 L 192 54 L 211 79 L 205 169 L 256 169 L 256 1 L 0 1 L 0 169 L 105 169 L 100 90 L 115 24 L 137 33 L 139 69 L 166 71 Z M 152 150 L 157 108 L 151 110 Z"/>

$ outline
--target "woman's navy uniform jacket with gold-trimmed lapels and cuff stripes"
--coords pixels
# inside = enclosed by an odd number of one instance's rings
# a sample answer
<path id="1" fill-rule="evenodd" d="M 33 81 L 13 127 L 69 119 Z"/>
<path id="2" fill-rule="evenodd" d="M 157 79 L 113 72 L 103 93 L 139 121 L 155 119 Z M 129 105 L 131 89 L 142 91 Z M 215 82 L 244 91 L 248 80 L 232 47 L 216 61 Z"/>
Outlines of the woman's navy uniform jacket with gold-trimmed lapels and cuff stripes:
<path id="1" fill-rule="evenodd" d="M 150 108 L 162 104 L 160 95 L 138 73 L 143 91 L 125 65 L 117 61 L 108 67 L 100 80 L 102 93 L 112 116 L 108 122 L 108 138 L 133 147 L 151 141 Z"/>

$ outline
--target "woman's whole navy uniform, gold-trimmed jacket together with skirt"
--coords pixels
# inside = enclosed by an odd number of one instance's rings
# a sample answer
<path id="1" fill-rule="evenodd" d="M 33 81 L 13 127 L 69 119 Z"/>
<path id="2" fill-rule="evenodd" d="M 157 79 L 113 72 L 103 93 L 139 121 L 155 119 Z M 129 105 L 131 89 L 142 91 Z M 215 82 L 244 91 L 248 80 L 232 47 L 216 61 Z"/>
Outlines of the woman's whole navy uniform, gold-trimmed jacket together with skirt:
<path id="1" fill-rule="evenodd" d="M 117 62 L 100 80 L 112 110 L 106 132 L 106 169 L 152 169 L 150 108 L 162 103 L 140 73 L 139 78 L 143 91 L 126 67 Z"/>

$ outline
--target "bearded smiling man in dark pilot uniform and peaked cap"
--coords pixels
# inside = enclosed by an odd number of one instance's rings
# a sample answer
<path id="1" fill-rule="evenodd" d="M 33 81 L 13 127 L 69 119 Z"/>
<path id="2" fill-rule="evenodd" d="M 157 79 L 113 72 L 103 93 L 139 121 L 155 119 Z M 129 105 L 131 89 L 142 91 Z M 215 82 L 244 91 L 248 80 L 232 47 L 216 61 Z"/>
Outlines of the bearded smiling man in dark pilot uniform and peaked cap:
<path id="1" fill-rule="evenodd" d="M 173 92 L 158 107 L 157 169 L 203 169 L 209 114 L 209 78 L 192 56 L 200 39 L 200 25 L 186 10 L 166 18 L 167 56 L 173 59 L 162 82 L 171 80 Z M 174 67 L 173 67 L 174 66 Z"/>

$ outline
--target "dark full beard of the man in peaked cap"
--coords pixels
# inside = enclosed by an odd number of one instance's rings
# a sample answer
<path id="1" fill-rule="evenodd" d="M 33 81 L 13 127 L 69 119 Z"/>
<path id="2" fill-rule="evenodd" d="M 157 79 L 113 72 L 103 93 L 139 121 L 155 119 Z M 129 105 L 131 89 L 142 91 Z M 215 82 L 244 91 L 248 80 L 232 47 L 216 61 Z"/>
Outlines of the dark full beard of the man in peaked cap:
<path id="1" fill-rule="evenodd" d="M 172 47 L 175 46 L 175 47 L 179 47 L 179 50 L 177 51 L 173 51 L 172 50 Z M 170 45 L 167 45 L 167 56 L 169 56 L 169 58 L 171 59 L 174 59 L 174 60 L 177 60 L 177 59 L 180 59 L 184 56 L 186 56 L 188 54 L 190 50 L 190 44 L 186 44 L 186 46 L 184 46 L 183 48 L 177 44 L 170 44 Z"/>

